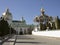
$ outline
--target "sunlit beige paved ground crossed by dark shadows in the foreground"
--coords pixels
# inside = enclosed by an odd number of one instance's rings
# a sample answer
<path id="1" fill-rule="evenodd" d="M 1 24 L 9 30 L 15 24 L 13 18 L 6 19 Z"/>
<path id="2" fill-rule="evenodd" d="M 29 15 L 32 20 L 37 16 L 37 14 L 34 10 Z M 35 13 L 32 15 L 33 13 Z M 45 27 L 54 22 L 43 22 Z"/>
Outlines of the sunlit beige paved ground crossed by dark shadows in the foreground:
<path id="1" fill-rule="evenodd" d="M 3 45 L 60 45 L 60 38 L 33 35 L 15 35 Z"/>

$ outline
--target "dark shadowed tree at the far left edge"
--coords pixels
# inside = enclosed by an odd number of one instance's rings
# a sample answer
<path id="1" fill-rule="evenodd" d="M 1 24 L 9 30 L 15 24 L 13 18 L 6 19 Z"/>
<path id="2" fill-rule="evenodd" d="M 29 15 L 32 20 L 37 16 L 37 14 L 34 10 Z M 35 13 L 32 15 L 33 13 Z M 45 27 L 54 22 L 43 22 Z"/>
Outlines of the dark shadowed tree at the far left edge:
<path id="1" fill-rule="evenodd" d="M 8 22 L 4 19 L 0 20 L 0 36 L 9 34 L 9 25 Z"/>

